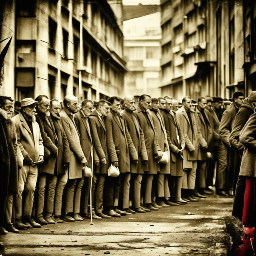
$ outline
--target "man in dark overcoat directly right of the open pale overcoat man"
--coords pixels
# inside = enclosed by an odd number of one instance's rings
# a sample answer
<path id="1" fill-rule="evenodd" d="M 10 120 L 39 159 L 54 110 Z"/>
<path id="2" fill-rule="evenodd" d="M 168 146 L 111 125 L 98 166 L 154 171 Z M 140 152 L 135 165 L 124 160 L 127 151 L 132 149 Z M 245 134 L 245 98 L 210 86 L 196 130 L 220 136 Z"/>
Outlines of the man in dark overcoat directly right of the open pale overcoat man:
<path id="1" fill-rule="evenodd" d="M 198 98 L 198 107 L 195 117 L 198 123 L 198 129 L 201 135 L 198 135 L 198 161 L 196 168 L 196 187 L 200 194 L 212 193 L 206 189 L 206 174 L 208 166 L 207 153 L 212 154 L 213 150 L 213 128 L 210 122 L 210 112 L 206 109 L 207 101 L 204 97 Z M 211 156 L 211 155 L 210 155 Z M 191 199 L 191 198 L 188 198 Z M 193 201 L 193 200 L 192 200 Z"/>

